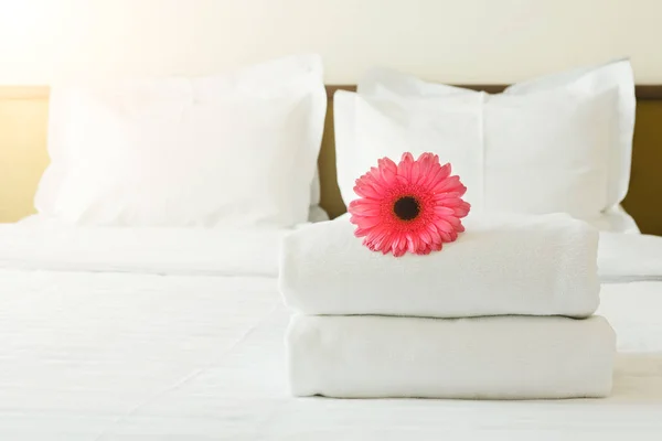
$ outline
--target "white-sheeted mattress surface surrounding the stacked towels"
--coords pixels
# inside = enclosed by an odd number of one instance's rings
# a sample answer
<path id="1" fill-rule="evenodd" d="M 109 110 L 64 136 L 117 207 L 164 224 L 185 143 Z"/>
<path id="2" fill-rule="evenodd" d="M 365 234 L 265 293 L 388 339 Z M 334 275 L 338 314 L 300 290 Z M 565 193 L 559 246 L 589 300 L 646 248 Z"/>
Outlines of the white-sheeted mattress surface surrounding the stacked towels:
<path id="1" fill-rule="evenodd" d="M 34 251 L 40 260 L 28 265 L 29 249 L 40 249 L 31 237 L 52 236 L 32 233 L 18 240 L 14 228 L 0 228 L 0 245 L 13 244 L 0 247 L 0 440 L 659 440 L 662 433 L 662 282 L 641 275 L 612 275 L 602 287 L 599 312 L 611 321 L 620 352 L 610 398 L 292 398 L 282 345 L 290 312 L 271 267 L 234 262 L 232 273 L 212 266 L 200 273 L 168 247 L 152 249 L 159 258 L 150 265 L 121 266 L 118 244 L 122 236 L 136 240 L 128 230 L 106 244 L 108 230 L 85 232 L 96 248 L 87 250 L 84 270 L 83 255 L 57 247 Z M 75 243 L 79 232 L 65 234 Z M 252 252 L 276 256 L 282 234 L 254 243 L 228 235 L 237 241 L 225 239 L 225 252 L 252 243 Z M 167 235 L 177 239 L 179 232 Z M 210 244 L 186 246 L 212 265 L 217 250 Z M 654 259 L 647 246 L 642 258 Z M 610 259 L 617 254 L 610 249 Z M 655 271 L 651 262 L 647 268 Z"/>

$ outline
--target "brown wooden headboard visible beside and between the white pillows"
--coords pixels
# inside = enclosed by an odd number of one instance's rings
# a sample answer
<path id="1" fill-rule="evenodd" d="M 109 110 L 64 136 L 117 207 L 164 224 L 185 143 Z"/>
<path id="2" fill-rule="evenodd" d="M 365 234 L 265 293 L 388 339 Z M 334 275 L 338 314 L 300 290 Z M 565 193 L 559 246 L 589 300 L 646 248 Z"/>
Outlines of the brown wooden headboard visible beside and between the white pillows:
<path id="1" fill-rule="evenodd" d="M 489 93 L 505 86 L 465 86 Z M 329 108 L 319 166 L 322 207 L 344 213 L 335 179 L 333 93 L 353 86 L 328 86 Z M 644 233 L 662 235 L 662 85 L 637 86 L 637 128 L 630 191 L 623 205 Z M 46 125 L 49 88 L 0 86 L 0 222 L 34 213 L 33 196 L 49 164 Z"/>

